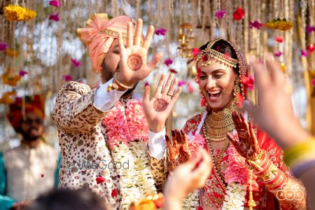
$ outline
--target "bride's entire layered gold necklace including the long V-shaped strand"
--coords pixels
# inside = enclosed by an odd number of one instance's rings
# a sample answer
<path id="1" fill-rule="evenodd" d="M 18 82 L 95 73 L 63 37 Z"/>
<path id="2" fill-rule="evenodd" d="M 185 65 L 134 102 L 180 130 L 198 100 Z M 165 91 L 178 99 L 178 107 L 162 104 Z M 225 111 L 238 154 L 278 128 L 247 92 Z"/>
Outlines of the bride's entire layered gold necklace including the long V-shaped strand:
<path id="1" fill-rule="evenodd" d="M 239 111 L 237 108 L 237 98 L 235 97 L 232 100 L 232 104 L 227 108 L 223 109 L 223 111 L 214 112 L 212 111 L 210 115 L 207 116 L 203 129 L 204 129 L 204 137 L 207 140 L 207 145 L 209 148 L 209 153 L 214 162 L 214 171 L 218 174 L 218 178 L 221 181 L 222 186 L 225 186 L 224 182 L 224 174 L 221 172 L 221 162 L 225 155 L 225 151 L 230 145 L 230 140 L 228 139 L 227 132 L 232 133 L 235 129 L 235 125 L 233 123 L 232 113 L 234 111 Z M 221 147 L 218 158 L 215 157 L 211 148 L 211 141 L 221 142 L 225 141 L 223 146 Z"/>

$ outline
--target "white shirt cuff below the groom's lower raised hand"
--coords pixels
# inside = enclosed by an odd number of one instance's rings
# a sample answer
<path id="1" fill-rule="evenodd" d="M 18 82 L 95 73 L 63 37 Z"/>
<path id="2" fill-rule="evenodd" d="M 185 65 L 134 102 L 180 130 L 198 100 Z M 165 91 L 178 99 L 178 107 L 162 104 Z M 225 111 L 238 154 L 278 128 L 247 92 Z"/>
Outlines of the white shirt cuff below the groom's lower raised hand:
<path id="1" fill-rule="evenodd" d="M 163 154 L 165 153 L 165 149 L 167 147 L 165 134 L 165 128 L 156 134 L 148 130 L 148 148 L 151 157 L 158 160 L 163 158 Z"/>

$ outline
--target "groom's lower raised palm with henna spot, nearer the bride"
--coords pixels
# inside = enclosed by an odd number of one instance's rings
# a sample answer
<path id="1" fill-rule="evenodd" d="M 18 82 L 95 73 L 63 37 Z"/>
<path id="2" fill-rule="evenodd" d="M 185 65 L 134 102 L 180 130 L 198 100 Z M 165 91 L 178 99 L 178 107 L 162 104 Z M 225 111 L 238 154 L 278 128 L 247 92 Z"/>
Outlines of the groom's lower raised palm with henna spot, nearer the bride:
<path id="1" fill-rule="evenodd" d="M 181 94 L 181 87 L 177 88 L 179 80 L 174 78 L 174 73 L 169 74 L 167 83 L 163 85 L 165 75 L 162 74 L 153 98 L 150 100 L 150 87 L 146 86 L 144 92 L 144 113 L 148 120 L 148 128 L 151 132 L 158 133 L 165 127 L 165 122 Z M 163 87 L 164 86 L 164 87 Z"/>

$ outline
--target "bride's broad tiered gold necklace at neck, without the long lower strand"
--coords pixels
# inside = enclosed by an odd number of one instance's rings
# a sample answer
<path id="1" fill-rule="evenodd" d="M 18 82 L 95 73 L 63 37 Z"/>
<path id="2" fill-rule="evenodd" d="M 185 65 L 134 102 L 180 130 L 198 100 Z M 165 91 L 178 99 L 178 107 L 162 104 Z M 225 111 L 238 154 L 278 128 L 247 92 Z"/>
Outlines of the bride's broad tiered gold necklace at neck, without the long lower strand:
<path id="1" fill-rule="evenodd" d="M 223 111 L 212 111 L 205 120 L 205 135 L 211 141 L 225 141 L 228 139 L 226 133 L 232 132 L 235 128 L 232 113 L 239 111 L 237 108 L 237 98 L 235 97 L 232 104 Z"/>

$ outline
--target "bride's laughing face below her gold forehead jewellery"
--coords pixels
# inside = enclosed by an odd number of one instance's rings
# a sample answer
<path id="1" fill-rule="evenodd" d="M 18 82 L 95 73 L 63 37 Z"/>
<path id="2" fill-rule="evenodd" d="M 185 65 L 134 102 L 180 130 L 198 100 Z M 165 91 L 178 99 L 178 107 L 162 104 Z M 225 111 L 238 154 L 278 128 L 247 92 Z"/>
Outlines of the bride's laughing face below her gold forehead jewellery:
<path id="1" fill-rule="evenodd" d="M 221 111 L 233 99 L 233 87 L 237 74 L 230 66 L 216 59 L 211 59 L 208 66 L 202 66 L 202 59 L 197 63 L 200 69 L 199 85 L 207 104 L 212 111 Z"/>

